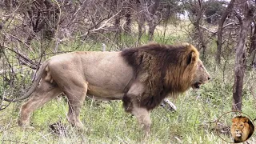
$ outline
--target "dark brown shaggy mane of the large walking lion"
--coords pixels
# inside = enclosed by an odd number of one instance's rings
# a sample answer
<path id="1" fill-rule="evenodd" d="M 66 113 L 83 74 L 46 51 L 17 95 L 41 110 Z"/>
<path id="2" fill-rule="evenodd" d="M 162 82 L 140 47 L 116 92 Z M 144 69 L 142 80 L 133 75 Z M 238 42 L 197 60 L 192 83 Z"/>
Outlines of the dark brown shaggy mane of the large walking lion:
<path id="1" fill-rule="evenodd" d="M 144 82 L 148 89 L 147 93 L 138 98 L 139 106 L 152 110 L 169 93 L 178 94 L 188 89 L 188 86 L 184 86 L 179 81 L 190 62 L 191 58 L 187 57 L 190 51 L 187 44 L 181 46 L 150 44 L 122 51 L 122 57 L 134 68 L 135 79 Z M 172 83 L 166 83 L 168 81 L 166 74 L 170 73 L 170 70 L 174 70 L 172 71 L 174 74 L 170 74 Z M 126 95 L 123 102 L 125 107 L 131 103 Z"/>

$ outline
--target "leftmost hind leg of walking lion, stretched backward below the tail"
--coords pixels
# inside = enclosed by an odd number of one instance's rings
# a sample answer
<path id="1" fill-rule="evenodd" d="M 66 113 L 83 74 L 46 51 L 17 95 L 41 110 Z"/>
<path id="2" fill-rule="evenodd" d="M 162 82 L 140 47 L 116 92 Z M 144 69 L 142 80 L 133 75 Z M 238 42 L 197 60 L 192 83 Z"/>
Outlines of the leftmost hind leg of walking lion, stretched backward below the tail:
<path id="1" fill-rule="evenodd" d="M 30 114 L 46 102 L 57 97 L 61 92 L 62 90 L 59 89 L 56 84 L 48 82 L 42 78 L 38 89 L 32 94 L 32 98 L 22 105 L 18 118 L 18 126 L 29 126 Z"/>

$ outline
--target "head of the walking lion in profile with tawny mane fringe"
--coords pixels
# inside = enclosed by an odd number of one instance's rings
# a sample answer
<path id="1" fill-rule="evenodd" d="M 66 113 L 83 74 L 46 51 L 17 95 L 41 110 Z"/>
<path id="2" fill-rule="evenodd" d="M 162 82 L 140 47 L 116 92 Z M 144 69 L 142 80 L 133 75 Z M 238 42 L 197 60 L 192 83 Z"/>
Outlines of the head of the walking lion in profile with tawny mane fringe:
<path id="1" fill-rule="evenodd" d="M 172 49 L 173 53 L 177 54 L 177 64 L 170 64 L 167 70 L 167 85 L 178 92 L 184 92 L 190 87 L 199 89 L 202 84 L 210 80 L 210 74 L 199 59 L 199 52 L 194 46 L 184 44 Z"/>

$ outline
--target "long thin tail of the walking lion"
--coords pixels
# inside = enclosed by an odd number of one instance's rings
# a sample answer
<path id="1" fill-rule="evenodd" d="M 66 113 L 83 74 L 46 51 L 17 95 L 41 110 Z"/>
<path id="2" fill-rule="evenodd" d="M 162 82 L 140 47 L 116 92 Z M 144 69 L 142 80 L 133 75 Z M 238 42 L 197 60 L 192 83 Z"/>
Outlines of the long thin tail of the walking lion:
<path id="1" fill-rule="evenodd" d="M 42 66 L 40 66 L 35 80 L 32 84 L 32 86 L 30 87 L 30 90 L 28 92 L 26 92 L 26 94 L 24 94 L 21 98 L 16 98 L 16 99 L 8 99 L 8 98 L 3 98 L 4 101 L 6 102 L 18 102 L 18 101 L 22 101 L 23 99 L 29 98 L 30 95 L 34 92 L 34 90 L 36 90 L 36 88 L 38 87 L 38 84 L 42 78 L 42 74 L 44 72 L 44 70 L 46 70 L 46 66 L 48 66 L 48 60 L 46 60 L 46 62 L 42 63 Z"/>

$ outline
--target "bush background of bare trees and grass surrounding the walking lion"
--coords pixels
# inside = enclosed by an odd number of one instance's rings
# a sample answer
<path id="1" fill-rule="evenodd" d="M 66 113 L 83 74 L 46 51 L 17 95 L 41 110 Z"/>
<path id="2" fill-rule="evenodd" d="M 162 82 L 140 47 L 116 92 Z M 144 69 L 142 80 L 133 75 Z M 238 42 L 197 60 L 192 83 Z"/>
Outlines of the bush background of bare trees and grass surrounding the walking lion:
<path id="1" fill-rule="evenodd" d="M 122 102 L 88 98 L 81 116 L 85 130 L 78 131 L 66 121 L 65 96 L 56 98 L 34 112 L 35 129 L 25 131 L 17 126 L 22 102 L 3 98 L 24 94 L 40 64 L 55 54 L 118 51 L 150 41 L 192 43 L 213 79 L 198 91 L 170 98 L 176 111 L 153 110 L 146 143 L 226 143 L 222 138 L 232 142 L 230 123 L 218 118 L 230 110 L 256 118 L 255 14 L 255 2 L 250 0 L 3 0 L 0 142 L 145 142 L 138 122 L 124 112 Z M 248 142 L 256 142 L 255 134 Z"/>

